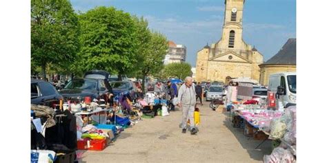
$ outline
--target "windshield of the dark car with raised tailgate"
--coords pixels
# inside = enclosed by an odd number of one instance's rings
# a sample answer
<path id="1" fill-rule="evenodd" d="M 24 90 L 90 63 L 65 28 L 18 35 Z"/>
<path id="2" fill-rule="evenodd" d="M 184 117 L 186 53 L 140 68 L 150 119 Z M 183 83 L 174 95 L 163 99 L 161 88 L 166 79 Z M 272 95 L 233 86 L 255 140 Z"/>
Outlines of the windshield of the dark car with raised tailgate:
<path id="1" fill-rule="evenodd" d="M 97 81 L 95 80 L 70 80 L 65 89 L 97 89 Z"/>

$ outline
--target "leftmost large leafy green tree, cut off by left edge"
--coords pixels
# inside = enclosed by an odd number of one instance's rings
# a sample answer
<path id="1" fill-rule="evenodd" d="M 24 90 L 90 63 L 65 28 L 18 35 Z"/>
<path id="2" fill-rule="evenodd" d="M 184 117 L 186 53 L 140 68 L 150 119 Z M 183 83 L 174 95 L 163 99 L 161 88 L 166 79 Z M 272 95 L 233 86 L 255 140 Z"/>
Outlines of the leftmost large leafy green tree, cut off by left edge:
<path id="1" fill-rule="evenodd" d="M 43 79 L 52 63 L 68 67 L 79 51 L 79 21 L 68 0 L 31 1 L 31 63 Z"/>

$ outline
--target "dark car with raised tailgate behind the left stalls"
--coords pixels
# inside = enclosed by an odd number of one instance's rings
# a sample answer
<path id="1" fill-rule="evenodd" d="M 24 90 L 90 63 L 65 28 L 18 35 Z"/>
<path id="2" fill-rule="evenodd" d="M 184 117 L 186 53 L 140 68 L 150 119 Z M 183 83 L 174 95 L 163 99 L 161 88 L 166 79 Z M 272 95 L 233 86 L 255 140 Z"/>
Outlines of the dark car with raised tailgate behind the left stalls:
<path id="1" fill-rule="evenodd" d="M 112 87 L 108 82 L 110 74 L 103 70 L 92 70 L 86 72 L 84 78 L 75 78 L 59 91 L 64 100 L 80 102 L 85 97 L 92 100 L 104 99 L 108 102 Z"/>

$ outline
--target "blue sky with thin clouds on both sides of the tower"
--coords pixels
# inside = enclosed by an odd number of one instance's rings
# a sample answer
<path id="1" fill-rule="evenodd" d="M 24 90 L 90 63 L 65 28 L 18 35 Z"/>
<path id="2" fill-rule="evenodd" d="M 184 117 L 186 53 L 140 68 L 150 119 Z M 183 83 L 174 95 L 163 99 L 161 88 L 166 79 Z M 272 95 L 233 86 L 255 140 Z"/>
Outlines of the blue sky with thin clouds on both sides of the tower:
<path id="1" fill-rule="evenodd" d="M 149 28 L 187 48 L 186 62 L 196 66 L 197 52 L 221 39 L 224 0 L 70 0 L 75 11 L 96 6 L 144 17 Z M 296 38 L 296 0 L 246 0 L 243 39 L 264 55 L 277 54 L 289 38 Z"/>

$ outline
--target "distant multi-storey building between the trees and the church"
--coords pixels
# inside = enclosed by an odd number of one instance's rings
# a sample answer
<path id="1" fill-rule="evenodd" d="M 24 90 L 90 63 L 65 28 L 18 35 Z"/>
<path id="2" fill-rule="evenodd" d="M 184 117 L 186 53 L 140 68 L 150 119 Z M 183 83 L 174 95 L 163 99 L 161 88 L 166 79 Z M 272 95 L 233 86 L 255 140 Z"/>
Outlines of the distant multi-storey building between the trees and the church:
<path id="1" fill-rule="evenodd" d="M 168 54 L 164 59 L 164 65 L 169 63 L 182 63 L 186 60 L 186 46 L 177 45 L 172 41 L 168 41 Z"/>

